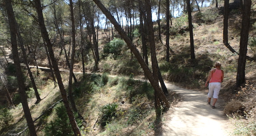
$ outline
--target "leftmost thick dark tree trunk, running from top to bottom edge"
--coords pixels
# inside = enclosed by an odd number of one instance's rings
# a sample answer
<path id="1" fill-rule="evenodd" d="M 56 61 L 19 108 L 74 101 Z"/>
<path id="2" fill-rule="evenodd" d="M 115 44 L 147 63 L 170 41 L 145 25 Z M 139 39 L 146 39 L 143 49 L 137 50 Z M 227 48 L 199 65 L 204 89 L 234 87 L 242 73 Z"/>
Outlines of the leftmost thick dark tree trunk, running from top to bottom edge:
<path id="1" fill-rule="evenodd" d="M 19 56 L 18 56 L 18 46 L 17 46 L 17 37 L 16 37 L 16 24 L 15 24 L 15 16 L 11 4 L 11 0 L 5 0 L 5 8 L 7 11 L 7 16 L 8 16 L 8 23 L 9 23 L 9 28 L 10 28 L 10 33 L 11 33 L 11 45 L 12 45 L 12 54 L 13 54 L 13 61 L 16 69 L 16 77 L 18 81 L 18 87 L 19 87 L 19 94 L 21 97 L 22 101 L 22 106 L 23 106 L 23 111 L 25 114 L 25 118 L 28 124 L 28 129 L 30 136 L 37 136 L 37 132 L 35 131 L 35 126 L 33 123 L 33 119 L 31 117 L 31 113 L 28 107 L 28 102 L 27 102 L 27 96 L 25 92 L 25 83 L 23 79 L 23 74 L 22 70 L 20 67 L 20 61 L 19 61 Z"/>

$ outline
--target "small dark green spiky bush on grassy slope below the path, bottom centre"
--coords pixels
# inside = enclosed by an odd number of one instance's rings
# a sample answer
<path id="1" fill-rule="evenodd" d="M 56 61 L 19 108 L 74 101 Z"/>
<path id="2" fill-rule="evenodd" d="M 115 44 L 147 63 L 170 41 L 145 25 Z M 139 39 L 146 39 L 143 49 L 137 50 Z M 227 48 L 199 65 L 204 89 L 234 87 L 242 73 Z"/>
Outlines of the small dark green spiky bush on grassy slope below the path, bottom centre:
<path id="1" fill-rule="evenodd" d="M 100 125 L 104 127 L 107 123 L 113 120 L 116 117 L 118 105 L 116 103 L 111 103 L 104 105 L 101 108 L 100 114 Z"/>

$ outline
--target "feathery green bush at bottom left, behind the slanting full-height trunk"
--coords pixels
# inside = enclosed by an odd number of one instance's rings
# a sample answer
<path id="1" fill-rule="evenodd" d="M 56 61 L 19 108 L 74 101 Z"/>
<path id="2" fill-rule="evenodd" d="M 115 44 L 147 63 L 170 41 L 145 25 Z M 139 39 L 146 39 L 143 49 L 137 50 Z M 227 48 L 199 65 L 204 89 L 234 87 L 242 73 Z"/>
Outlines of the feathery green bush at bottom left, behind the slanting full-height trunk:
<path id="1" fill-rule="evenodd" d="M 46 136 L 74 136 L 64 104 L 58 104 L 55 110 L 57 117 L 46 125 L 44 129 Z M 74 117 L 77 126 L 81 126 L 82 120 L 78 119 L 78 115 L 76 113 L 74 114 Z"/>

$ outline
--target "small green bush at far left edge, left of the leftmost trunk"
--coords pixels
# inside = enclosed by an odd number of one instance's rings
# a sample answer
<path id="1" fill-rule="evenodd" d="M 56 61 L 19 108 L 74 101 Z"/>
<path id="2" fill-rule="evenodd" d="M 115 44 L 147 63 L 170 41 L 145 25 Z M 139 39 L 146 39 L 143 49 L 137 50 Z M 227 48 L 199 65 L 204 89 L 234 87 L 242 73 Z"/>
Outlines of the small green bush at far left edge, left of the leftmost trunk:
<path id="1" fill-rule="evenodd" d="M 3 108 L 0 110 L 0 126 L 8 126 L 13 117 L 8 108 Z"/>

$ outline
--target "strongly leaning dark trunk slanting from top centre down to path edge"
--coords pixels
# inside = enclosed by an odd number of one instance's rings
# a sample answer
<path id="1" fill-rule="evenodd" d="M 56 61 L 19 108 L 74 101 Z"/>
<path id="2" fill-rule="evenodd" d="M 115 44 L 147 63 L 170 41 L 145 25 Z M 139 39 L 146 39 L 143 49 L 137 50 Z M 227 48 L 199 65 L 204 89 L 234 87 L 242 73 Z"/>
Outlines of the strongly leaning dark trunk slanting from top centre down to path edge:
<path id="1" fill-rule="evenodd" d="M 148 80 L 150 81 L 152 87 L 154 88 L 157 96 L 157 102 L 159 100 L 162 101 L 162 105 L 166 108 L 170 107 L 170 104 L 168 100 L 166 99 L 166 96 L 163 94 L 161 88 L 159 87 L 157 81 L 153 78 L 153 74 L 151 73 L 150 69 L 148 68 L 147 64 L 144 62 L 143 58 L 140 55 L 140 52 L 138 49 L 132 44 L 132 41 L 130 38 L 126 35 L 124 30 L 120 27 L 120 25 L 116 22 L 115 18 L 110 14 L 110 12 L 104 7 L 104 5 L 99 0 L 94 0 L 94 2 L 98 5 L 100 10 L 106 15 L 106 17 L 109 18 L 109 20 L 112 22 L 112 24 L 115 26 L 116 30 L 119 32 L 120 36 L 123 37 L 125 42 L 127 43 L 127 46 L 132 50 L 133 54 L 136 56 L 138 62 L 140 63 L 142 69 L 144 70 L 144 73 L 146 74 Z M 159 109 L 159 103 L 157 103 L 156 110 Z"/>

